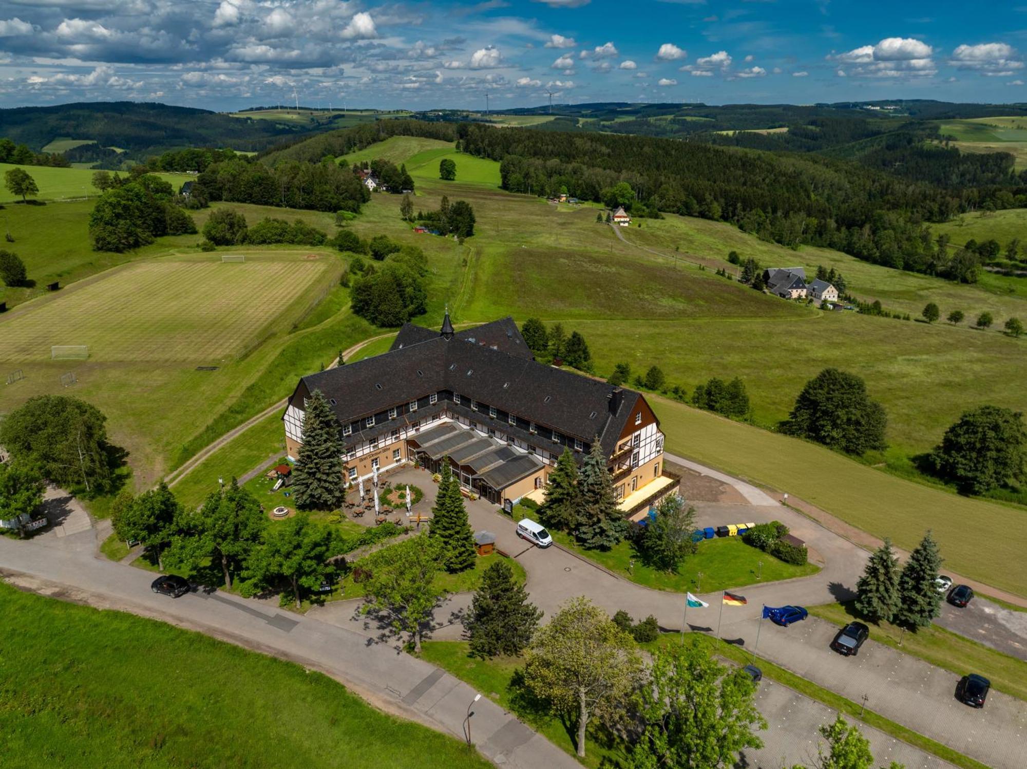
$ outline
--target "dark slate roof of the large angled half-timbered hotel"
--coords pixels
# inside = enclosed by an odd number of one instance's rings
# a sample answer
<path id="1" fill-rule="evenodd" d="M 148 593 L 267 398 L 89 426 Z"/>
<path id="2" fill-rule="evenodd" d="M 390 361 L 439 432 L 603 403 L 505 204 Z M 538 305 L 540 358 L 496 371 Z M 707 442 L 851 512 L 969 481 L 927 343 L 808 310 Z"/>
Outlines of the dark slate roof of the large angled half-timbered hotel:
<path id="1" fill-rule="evenodd" d="M 506 335 L 505 325 L 506 319 L 486 324 L 451 340 L 436 334 L 429 340 L 309 374 L 301 381 L 308 392 L 320 390 L 326 398 L 334 399 L 333 409 L 342 423 L 429 393 L 451 391 L 584 442 L 599 435 L 606 453 L 612 452 L 642 396 L 518 354 L 520 349 L 512 333 Z M 410 332 L 411 336 L 415 333 L 420 332 Z M 497 334 L 517 352 L 478 343 L 480 337 L 489 341 L 497 339 Z M 520 344 L 524 345 L 523 339 Z M 615 390 L 619 390 L 619 402 L 611 409 Z"/>

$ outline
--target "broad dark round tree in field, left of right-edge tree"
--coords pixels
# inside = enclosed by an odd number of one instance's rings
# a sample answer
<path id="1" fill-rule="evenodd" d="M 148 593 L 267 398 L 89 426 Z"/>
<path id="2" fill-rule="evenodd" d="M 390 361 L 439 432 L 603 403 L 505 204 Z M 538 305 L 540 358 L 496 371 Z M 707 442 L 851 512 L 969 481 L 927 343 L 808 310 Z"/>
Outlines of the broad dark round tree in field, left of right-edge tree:
<path id="1" fill-rule="evenodd" d="M 884 408 L 870 400 L 862 378 L 826 368 L 806 382 L 781 429 L 834 449 L 862 454 L 884 449 L 886 423 Z"/>

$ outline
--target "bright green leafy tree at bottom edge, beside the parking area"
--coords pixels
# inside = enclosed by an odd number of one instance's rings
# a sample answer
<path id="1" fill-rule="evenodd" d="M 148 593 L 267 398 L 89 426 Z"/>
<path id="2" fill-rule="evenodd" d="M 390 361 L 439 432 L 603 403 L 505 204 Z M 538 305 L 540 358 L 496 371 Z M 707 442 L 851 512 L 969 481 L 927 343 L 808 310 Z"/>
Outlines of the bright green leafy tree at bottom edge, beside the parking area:
<path id="1" fill-rule="evenodd" d="M 755 732 L 767 724 L 756 709 L 756 685 L 698 644 L 664 647 L 653 655 L 650 682 L 639 689 L 645 724 L 629 759 L 631 769 L 731 767 L 747 747 L 763 746 Z"/>

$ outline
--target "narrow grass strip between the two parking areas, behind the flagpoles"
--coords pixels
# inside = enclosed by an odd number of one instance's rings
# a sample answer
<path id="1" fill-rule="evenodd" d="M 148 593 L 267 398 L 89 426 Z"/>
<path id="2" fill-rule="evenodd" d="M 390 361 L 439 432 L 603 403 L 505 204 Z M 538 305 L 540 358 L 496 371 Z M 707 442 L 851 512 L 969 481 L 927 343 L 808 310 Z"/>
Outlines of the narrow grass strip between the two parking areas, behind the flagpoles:
<path id="1" fill-rule="evenodd" d="M 883 716 L 877 715 L 873 710 L 865 709 L 857 702 L 852 702 L 851 700 L 845 699 L 841 695 L 835 694 L 834 692 L 824 689 L 812 682 L 806 681 L 805 679 L 796 675 L 791 670 L 786 670 L 785 668 L 779 667 L 773 662 L 765 660 L 762 657 L 754 657 L 738 647 L 728 644 L 722 639 L 714 638 L 702 633 L 689 633 L 687 639 L 685 640 L 689 644 L 700 644 L 707 646 L 715 654 L 724 657 L 737 665 L 748 665 L 754 662 L 768 679 L 775 681 L 778 684 L 783 684 L 811 699 L 823 702 L 828 707 L 834 708 L 839 713 L 848 717 L 847 720 L 849 723 L 852 721 L 862 721 L 867 726 L 880 729 L 885 734 L 890 734 L 897 739 L 901 739 L 914 747 L 918 747 L 921 750 L 933 754 L 943 761 L 948 761 L 950 764 L 962 767 L 963 769 L 987 769 L 987 767 L 979 761 L 967 758 L 966 756 L 953 750 L 951 747 L 943 745 L 941 742 L 936 742 L 928 737 L 917 734 L 911 729 L 907 729 L 893 721 L 885 719 Z M 653 651 L 657 648 L 681 643 L 681 633 L 663 633 L 654 643 L 643 645 L 643 648 L 648 651 Z"/>

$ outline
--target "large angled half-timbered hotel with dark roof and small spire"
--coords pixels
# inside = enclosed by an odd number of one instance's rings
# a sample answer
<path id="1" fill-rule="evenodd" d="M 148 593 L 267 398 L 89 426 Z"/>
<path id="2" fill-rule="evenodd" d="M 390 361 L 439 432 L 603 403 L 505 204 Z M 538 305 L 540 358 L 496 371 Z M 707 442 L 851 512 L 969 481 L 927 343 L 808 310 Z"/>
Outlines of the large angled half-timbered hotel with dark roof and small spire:
<path id="1" fill-rule="evenodd" d="M 348 482 L 408 463 L 496 505 L 537 497 L 557 459 L 599 442 L 625 515 L 678 487 L 663 434 L 641 393 L 535 361 L 511 318 L 456 331 L 406 324 L 387 353 L 300 379 L 282 417 L 290 457 L 314 391 L 339 419 Z M 640 512 L 641 511 L 641 512 Z"/>

